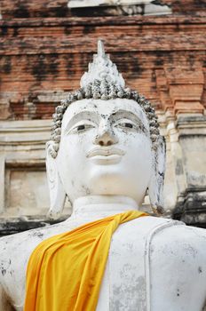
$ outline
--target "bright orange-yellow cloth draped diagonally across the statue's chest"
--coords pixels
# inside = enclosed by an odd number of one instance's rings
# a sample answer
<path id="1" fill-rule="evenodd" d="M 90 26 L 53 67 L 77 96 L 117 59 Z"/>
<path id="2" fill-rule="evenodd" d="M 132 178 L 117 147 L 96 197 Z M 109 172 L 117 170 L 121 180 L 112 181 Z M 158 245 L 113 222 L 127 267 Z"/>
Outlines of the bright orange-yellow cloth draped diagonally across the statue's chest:
<path id="1" fill-rule="evenodd" d="M 24 311 L 95 310 L 112 235 L 141 216 L 126 211 L 40 243 L 28 261 Z"/>

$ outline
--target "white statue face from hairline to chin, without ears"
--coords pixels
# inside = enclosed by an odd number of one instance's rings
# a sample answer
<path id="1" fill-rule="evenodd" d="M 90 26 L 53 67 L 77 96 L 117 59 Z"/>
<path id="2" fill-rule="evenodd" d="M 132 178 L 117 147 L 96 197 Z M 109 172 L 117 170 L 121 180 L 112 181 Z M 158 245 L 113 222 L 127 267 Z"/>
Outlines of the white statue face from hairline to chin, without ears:
<path id="1" fill-rule="evenodd" d="M 59 177 L 73 202 L 127 195 L 140 204 L 152 170 L 147 116 L 134 100 L 77 100 L 64 114 Z"/>

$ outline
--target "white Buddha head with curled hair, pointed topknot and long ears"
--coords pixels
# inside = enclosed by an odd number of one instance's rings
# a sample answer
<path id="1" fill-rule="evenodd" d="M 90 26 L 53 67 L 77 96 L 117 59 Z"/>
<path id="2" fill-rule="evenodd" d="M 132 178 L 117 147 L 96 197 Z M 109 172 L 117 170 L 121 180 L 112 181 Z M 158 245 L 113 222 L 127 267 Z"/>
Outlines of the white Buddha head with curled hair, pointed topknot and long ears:
<path id="1" fill-rule="evenodd" d="M 125 195 L 138 205 L 148 190 L 151 207 L 162 211 L 165 142 L 155 109 L 123 76 L 101 41 L 81 88 L 69 93 L 53 115 L 47 143 L 50 215 L 59 217 L 66 195 Z"/>

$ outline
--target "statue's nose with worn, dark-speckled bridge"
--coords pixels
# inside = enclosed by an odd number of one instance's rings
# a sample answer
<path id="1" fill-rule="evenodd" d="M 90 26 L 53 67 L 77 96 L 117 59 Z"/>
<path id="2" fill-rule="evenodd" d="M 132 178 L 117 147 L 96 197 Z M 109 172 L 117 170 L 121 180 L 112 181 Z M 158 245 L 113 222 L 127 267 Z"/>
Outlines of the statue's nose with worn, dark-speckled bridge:
<path id="1" fill-rule="evenodd" d="M 99 124 L 99 132 L 94 139 L 94 144 L 99 146 L 111 146 L 117 142 L 117 137 L 111 127 L 108 124 Z"/>

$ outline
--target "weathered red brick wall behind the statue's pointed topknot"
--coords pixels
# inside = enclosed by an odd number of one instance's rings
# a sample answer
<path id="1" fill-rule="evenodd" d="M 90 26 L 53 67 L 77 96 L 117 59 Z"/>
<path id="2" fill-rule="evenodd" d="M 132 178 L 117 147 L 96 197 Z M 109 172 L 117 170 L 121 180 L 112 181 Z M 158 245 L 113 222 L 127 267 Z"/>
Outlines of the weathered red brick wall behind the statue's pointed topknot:
<path id="1" fill-rule="evenodd" d="M 203 1 L 162 1 L 169 16 L 72 16 L 67 1 L 3 0 L 0 118 L 50 118 L 54 92 L 79 87 L 98 38 L 129 86 L 155 108 L 206 106 Z M 73 14 L 74 15 L 74 14 Z M 53 17 L 54 16 L 54 17 Z M 44 100 L 40 95 L 44 95 Z"/>

